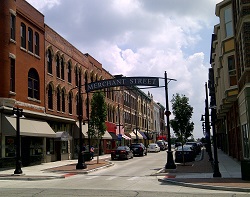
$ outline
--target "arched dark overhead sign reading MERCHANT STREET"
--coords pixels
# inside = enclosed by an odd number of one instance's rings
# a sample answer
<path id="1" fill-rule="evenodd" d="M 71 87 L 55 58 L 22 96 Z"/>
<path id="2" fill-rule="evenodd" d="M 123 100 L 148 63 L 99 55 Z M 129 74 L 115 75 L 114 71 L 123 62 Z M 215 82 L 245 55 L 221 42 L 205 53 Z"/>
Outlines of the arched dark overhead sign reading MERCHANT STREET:
<path id="1" fill-rule="evenodd" d="M 159 87 L 158 77 L 122 77 L 87 84 L 87 92 L 115 86 L 155 86 Z"/>

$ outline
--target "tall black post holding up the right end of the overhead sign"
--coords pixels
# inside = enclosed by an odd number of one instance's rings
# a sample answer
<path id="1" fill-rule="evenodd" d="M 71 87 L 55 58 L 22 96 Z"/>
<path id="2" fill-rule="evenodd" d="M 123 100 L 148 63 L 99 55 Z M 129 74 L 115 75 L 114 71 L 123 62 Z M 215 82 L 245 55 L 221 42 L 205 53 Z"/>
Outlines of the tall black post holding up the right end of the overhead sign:
<path id="1" fill-rule="evenodd" d="M 168 132 L 168 156 L 167 156 L 167 163 L 165 165 L 165 169 L 176 169 L 176 165 L 174 163 L 173 159 L 173 152 L 171 150 L 171 138 L 170 138 L 170 125 L 169 125 L 169 116 L 171 112 L 169 111 L 168 106 L 168 78 L 167 78 L 167 72 L 165 71 L 165 94 L 166 94 L 166 111 L 165 115 L 167 118 L 167 132 Z"/>

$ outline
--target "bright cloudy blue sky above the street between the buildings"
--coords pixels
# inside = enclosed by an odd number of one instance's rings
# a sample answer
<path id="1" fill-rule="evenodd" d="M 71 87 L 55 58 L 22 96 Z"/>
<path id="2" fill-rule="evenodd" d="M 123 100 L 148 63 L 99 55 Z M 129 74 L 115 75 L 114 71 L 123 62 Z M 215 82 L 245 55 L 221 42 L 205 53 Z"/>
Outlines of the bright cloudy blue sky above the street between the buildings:
<path id="1" fill-rule="evenodd" d="M 27 1 L 44 15 L 48 26 L 111 74 L 163 78 L 166 71 L 174 79 L 168 80 L 170 111 L 173 95 L 188 97 L 193 136 L 204 137 L 200 119 L 211 67 L 211 36 L 219 23 L 215 6 L 222 0 Z M 143 91 L 166 107 L 164 88 Z"/>

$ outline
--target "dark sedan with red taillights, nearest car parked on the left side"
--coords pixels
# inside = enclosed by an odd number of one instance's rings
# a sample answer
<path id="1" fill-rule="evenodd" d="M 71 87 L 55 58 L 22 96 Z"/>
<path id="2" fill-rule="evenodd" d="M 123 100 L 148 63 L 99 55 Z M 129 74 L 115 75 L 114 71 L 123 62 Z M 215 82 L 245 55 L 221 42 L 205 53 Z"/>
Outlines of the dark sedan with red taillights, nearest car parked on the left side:
<path id="1" fill-rule="evenodd" d="M 114 159 L 132 159 L 133 152 L 128 146 L 118 146 L 116 150 L 111 151 L 111 160 Z"/>

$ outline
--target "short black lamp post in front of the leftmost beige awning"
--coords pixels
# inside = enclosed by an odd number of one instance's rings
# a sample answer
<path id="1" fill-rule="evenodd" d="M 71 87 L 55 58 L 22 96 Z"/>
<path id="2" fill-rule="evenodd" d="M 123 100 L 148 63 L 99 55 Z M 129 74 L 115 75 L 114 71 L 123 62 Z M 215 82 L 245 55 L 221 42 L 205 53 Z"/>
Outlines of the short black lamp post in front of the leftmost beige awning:
<path id="1" fill-rule="evenodd" d="M 21 149 L 20 149 L 20 117 L 23 115 L 23 109 L 13 108 L 13 113 L 16 115 L 16 169 L 14 174 L 22 174 Z"/>

